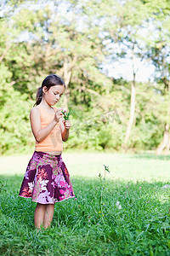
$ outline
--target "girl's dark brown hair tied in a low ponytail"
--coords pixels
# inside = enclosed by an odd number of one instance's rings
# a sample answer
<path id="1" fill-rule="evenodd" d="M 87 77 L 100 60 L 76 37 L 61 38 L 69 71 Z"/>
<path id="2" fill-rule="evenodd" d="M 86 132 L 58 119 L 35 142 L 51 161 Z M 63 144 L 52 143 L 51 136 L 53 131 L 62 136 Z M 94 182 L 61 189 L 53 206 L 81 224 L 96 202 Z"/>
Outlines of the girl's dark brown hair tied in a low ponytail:
<path id="1" fill-rule="evenodd" d="M 42 86 L 38 88 L 38 90 L 37 90 L 37 101 L 34 104 L 34 106 L 37 106 L 42 102 L 42 96 L 43 96 L 42 88 L 44 86 L 46 86 L 47 90 L 49 90 L 49 88 L 54 86 L 54 85 L 64 85 L 65 86 L 65 82 L 59 76 L 57 76 L 55 74 L 50 74 L 50 75 L 48 75 L 47 78 L 45 78 L 42 81 Z"/>

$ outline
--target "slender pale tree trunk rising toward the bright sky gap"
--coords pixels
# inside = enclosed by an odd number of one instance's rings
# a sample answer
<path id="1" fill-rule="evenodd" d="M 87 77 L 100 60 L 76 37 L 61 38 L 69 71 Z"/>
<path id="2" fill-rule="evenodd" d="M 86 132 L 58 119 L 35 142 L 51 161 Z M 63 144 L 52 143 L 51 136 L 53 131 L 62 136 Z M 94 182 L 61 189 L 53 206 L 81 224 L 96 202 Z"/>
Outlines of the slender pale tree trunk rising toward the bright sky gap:
<path id="1" fill-rule="evenodd" d="M 133 73 L 133 82 L 131 85 L 131 102 L 130 102 L 130 117 L 128 120 L 127 131 L 125 136 L 125 145 L 127 145 L 130 133 L 133 127 L 134 122 L 134 113 L 135 113 L 135 98 L 136 98 L 136 88 L 135 88 L 135 73 Z"/>

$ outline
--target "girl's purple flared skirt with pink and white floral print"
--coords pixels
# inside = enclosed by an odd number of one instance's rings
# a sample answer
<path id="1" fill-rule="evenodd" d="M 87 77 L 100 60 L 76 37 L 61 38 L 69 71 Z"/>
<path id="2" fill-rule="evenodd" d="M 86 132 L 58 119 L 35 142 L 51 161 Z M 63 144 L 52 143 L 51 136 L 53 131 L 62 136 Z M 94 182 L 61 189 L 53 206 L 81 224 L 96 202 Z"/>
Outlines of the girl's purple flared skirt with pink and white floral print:
<path id="1" fill-rule="evenodd" d="M 41 204 L 54 204 L 75 197 L 61 154 L 35 151 L 26 168 L 19 195 Z"/>

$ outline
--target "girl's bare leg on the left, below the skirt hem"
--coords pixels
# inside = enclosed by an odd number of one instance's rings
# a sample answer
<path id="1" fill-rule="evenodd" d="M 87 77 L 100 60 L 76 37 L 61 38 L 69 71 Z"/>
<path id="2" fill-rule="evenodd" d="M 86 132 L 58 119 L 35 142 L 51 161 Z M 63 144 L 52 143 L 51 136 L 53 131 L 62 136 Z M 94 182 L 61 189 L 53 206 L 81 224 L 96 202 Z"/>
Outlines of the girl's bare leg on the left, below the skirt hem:
<path id="1" fill-rule="evenodd" d="M 40 230 L 41 226 L 43 226 L 45 209 L 46 209 L 46 205 L 37 203 L 37 207 L 36 207 L 35 214 L 34 214 L 34 224 L 37 227 L 37 229 L 39 229 L 39 230 Z"/>

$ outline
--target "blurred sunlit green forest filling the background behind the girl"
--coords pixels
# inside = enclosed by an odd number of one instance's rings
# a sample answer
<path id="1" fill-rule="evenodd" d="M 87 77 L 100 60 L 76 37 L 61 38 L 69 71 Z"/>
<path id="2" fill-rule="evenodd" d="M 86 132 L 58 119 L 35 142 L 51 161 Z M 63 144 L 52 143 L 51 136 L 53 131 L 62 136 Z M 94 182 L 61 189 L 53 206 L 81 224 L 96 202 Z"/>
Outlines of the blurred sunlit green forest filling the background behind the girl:
<path id="1" fill-rule="evenodd" d="M 0 154 L 34 148 L 29 113 L 49 73 L 65 79 L 65 148 L 169 151 L 168 0 L 1 1 Z M 129 59 L 132 81 L 111 77 Z M 140 67 L 155 73 L 137 82 Z"/>

